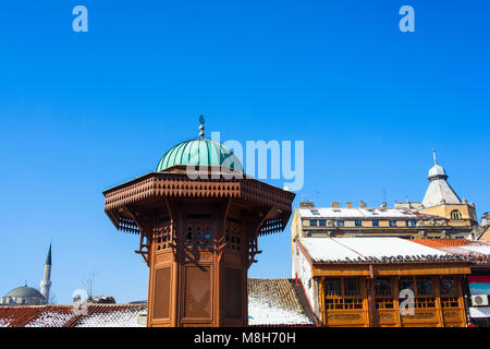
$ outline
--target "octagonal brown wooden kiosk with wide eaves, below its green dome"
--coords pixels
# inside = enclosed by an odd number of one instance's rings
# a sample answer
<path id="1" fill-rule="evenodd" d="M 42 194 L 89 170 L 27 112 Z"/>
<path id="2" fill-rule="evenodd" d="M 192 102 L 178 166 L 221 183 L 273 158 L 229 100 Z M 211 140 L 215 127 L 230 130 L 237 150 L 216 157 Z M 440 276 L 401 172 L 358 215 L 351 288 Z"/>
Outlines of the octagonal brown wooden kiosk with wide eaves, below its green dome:
<path id="1" fill-rule="evenodd" d="M 203 171 L 204 169 L 204 171 Z M 106 213 L 140 236 L 149 266 L 148 326 L 246 326 L 257 237 L 282 231 L 294 194 L 222 167 L 150 172 L 109 189 Z"/>

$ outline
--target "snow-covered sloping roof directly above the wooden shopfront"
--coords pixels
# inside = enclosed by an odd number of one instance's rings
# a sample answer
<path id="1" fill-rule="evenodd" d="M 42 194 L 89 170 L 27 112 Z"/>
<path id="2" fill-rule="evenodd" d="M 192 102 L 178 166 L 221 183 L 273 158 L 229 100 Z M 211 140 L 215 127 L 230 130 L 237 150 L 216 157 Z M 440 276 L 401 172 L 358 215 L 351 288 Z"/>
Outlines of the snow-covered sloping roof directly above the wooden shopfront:
<path id="1" fill-rule="evenodd" d="M 301 238 L 313 263 L 462 261 L 457 255 L 401 238 Z"/>

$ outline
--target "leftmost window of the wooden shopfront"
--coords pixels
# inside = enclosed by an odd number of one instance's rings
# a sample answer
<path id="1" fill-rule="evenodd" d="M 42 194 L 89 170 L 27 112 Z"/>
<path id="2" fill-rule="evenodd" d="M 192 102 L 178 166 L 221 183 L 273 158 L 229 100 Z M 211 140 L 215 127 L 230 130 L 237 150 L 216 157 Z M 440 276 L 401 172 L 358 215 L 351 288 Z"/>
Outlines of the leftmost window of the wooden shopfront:
<path id="1" fill-rule="evenodd" d="M 323 289 L 327 310 L 364 308 L 360 282 L 356 277 L 326 278 Z"/>

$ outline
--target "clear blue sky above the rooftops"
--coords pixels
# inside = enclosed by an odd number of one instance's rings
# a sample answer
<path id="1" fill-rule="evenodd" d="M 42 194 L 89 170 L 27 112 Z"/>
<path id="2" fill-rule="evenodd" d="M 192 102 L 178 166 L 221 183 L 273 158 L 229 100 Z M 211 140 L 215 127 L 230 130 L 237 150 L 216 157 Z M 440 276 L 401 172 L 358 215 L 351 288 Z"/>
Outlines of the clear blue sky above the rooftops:
<path id="1" fill-rule="evenodd" d="M 52 239 L 58 303 L 90 270 L 96 293 L 146 299 L 138 238 L 101 192 L 155 170 L 200 113 L 223 141 L 304 141 L 294 205 L 420 201 L 434 147 L 490 210 L 488 1 L 19 2 L 0 5 L 0 296 L 39 286 Z M 261 239 L 249 276 L 289 277 L 289 239 Z"/>

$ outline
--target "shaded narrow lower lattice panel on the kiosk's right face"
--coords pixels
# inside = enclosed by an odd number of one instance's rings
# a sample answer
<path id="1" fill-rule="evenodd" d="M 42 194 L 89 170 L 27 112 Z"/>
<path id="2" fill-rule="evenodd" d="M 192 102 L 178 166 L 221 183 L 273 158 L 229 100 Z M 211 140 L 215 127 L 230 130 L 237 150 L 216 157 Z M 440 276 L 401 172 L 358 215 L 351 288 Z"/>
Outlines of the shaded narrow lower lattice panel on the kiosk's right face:
<path id="1" fill-rule="evenodd" d="M 242 317 L 242 270 L 224 268 L 224 317 Z"/>

